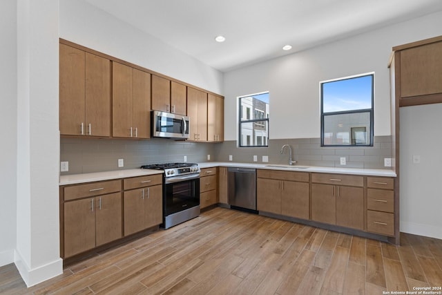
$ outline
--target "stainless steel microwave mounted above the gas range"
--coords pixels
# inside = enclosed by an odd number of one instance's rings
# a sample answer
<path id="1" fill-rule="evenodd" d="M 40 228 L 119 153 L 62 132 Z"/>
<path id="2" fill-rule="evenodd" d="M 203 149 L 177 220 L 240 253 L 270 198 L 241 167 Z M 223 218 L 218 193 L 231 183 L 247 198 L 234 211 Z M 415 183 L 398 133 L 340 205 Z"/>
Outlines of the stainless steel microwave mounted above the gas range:
<path id="1" fill-rule="evenodd" d="M 152 111 L 152 137 L 189 138 L 189 117 Z"/>

